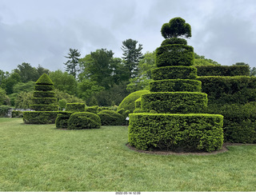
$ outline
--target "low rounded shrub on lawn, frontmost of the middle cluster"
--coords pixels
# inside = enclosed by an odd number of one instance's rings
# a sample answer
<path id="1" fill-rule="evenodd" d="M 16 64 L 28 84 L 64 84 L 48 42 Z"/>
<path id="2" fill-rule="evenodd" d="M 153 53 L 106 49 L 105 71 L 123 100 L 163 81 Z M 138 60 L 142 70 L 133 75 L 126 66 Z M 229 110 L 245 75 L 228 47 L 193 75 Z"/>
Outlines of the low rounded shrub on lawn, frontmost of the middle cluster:
<path id="1" fill-rule="evenodd" d="M 72 113 L 68 121 L 68 129 L 97 129 L 101 126 L 101 119 L 95 113 Z"/>

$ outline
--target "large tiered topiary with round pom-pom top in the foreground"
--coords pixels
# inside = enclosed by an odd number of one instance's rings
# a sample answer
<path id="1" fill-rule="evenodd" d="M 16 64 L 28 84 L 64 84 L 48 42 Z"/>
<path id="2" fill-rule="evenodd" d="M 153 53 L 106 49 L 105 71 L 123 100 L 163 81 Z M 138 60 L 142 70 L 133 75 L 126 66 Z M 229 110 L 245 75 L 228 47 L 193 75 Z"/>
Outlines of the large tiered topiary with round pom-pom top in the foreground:
<path id="1" fill-rule="evenodd" d="M 191 27 L 182 18 L 162 26 L 166 38 L 156 50 L 158 68 L 152 71 L 150 94 L 143 94 L 141 109 L 131 113 L 128 141 L 137 149 L 207 151 L 221 149 L 223 117 L 201 113 L 207 95 L 201 93 L 194 64 L 194 49 L 187 46 Z M 136 102 L 138 105 L 138 102 Z"/>

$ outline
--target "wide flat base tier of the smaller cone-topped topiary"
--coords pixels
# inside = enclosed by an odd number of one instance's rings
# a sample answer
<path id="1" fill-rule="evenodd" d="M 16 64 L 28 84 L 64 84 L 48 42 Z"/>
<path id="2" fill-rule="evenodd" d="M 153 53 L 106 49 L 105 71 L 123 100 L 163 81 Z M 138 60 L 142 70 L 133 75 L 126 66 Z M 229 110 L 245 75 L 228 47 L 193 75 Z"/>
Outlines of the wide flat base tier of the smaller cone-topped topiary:
<path id="1" fill-rule="evenodd" d="M 25 111 L 23 121 L 26 124 L 54 124 L 58 111 Z"/>

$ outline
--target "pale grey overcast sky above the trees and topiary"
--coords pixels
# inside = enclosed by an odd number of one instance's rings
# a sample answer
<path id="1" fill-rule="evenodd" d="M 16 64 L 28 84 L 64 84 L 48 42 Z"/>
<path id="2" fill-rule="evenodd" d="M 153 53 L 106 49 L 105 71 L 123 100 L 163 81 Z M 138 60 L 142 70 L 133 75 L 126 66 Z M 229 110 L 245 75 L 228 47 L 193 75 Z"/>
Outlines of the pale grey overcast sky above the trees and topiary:
<path id="1" fill-rule="evenodd" d="M 164 40 L 162 24 L 175 17 L 190 24 L 195 53 L 256 67 L 255 0 L 1 0 L 0 70 L 22 62 L 64 70 L 70 48 L 82 58 L 102 48 L 121 58 L 128 38 L 152 52 Z"/>

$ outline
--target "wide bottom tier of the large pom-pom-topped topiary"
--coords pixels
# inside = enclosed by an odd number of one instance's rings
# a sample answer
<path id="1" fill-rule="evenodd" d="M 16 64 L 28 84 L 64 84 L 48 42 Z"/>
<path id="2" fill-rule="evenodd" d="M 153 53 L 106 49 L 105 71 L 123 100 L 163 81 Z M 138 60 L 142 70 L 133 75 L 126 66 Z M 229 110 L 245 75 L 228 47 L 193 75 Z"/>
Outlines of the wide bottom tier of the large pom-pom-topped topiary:
<path id="1" fill-rule="evenodd" d="M 136 149 L 212 152 L 222 148 L 219 114 L 131 113 L 128 141 Z"/>

